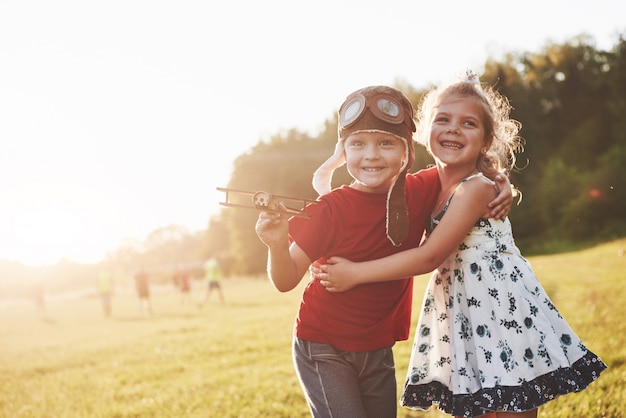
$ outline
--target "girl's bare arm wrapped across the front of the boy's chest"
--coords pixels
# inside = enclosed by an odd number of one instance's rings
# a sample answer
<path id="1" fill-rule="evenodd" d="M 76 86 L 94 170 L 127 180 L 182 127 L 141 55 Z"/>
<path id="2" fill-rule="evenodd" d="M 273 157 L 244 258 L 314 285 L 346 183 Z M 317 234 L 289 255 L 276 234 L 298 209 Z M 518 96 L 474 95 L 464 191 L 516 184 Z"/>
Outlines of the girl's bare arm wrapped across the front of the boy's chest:
<path id="1" fill-rule="evenodd" d="M 489 213 L 494 187 L 484 179 L 472 179 L 461 185 L 446 214 L 420 246 L 377 260 L 353 263 L 331 257 L 318 275 L 330 292 L 343 292 L 358 284 L 397 280 L 436 269 L 463 242 L 476 221 Z"/>

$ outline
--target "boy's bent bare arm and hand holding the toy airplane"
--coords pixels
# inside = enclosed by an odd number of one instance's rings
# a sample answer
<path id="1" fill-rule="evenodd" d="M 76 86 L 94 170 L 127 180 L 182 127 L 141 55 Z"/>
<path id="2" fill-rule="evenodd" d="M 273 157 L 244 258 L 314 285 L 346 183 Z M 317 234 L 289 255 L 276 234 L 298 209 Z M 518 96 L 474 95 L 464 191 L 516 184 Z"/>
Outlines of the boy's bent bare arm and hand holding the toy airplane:
<path id="1" fill-rule="evenodd" d="M 285 210 L 284 205 L 281 206 Z M 280 292 L 288 292 L 300 283 L 311 260 L 294 242 L 289 244 L 287 216 L 261 212 L 255 226 L 257 236 L 267 246 L 267 275 Z"/>

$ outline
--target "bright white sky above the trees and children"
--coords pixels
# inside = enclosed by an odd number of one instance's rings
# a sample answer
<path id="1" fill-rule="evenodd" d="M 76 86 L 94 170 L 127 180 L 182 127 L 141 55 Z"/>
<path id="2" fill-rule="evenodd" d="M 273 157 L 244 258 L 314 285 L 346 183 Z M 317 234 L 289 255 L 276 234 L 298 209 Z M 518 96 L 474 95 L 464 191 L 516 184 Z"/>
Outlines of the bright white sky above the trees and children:
<path id="1" fill-rule="evenodd" d="M 626 32 L 626 2 L 0 0 L 0 259 L 206 228 L 232 161 L 351 91 Z"/>

